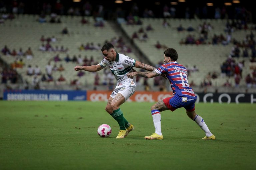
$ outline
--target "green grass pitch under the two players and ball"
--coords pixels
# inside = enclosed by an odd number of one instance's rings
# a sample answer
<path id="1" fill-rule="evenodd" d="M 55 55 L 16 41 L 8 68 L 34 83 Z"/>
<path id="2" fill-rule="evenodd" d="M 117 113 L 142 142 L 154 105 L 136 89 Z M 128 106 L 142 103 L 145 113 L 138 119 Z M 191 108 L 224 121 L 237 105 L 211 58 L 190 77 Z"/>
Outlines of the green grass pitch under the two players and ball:
<path id="1" fill-rule="evenodd" d="M 152 103 L 125 103 L 125 118 L 135 126 L 116 139 L 119 126 L 105 102 L 0 102 L 0 169 L 256 169 L 256 105 L 196 104 L 216 140 L 183 108 L 162 115 L 163 140 L 154 132 Z M 109 138 L 97 128 L 108 124 Z"/>

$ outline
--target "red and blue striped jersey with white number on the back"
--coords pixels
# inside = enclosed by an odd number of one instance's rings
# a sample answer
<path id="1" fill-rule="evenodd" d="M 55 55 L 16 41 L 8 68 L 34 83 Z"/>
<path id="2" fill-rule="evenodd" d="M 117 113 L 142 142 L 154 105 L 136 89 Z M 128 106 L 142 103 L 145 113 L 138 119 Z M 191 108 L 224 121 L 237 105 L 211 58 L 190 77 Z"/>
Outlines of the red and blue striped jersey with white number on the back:
<path id="1" fill-rule="evenodd" d="M 195 98 L 195 92 L 188 84 L 188 72 L 186 67 L 172 61 L 155 69 L 158 74 L 164 74 L 170 81 L 173 94 L 178 96 Z"/>

